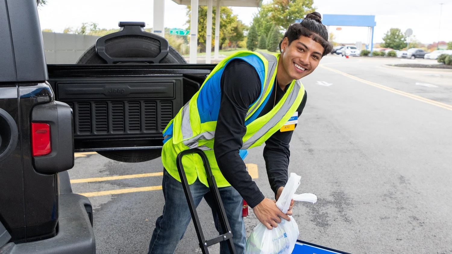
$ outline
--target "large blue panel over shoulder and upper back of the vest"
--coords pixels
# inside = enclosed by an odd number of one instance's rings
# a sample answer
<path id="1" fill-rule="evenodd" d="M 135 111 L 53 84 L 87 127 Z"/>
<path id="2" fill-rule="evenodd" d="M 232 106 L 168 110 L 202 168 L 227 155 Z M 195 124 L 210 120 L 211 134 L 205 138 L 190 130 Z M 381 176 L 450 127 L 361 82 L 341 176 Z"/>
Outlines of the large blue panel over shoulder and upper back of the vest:
<path id="1" fill-rule="evenodd" d="M 241 59 L 243 61 L 248 62 L 251 66 L 253 66 L 261 81 L 261 93 L 264 90 L 264 78 L 265 78 L 265 66 L 259 56 L 254 54 L 249 56 L 240 56 L 231 58 L 229 61 L 233 59 Z M 228 63 L 229 63 L 228 61 Z M 226 63 L 227 65 L 227 63 Z M 225 66 L 226 66 L 225 65 Z M 201 123 L 217 121 L 218 112 L 220 111 L 220 103 L 221 103 L 221 75 L 223 74 L 224 67 L 218 70 L 212 77 L 207 80 L 206 84 L 202 87 L 198 94 L 198 113 Z M 260 95 L 259 95 L 260 96 Z M 251 103 L 253 105 L 255 102 Z M 250 105 L 250 106 L 251 106 Z"/>

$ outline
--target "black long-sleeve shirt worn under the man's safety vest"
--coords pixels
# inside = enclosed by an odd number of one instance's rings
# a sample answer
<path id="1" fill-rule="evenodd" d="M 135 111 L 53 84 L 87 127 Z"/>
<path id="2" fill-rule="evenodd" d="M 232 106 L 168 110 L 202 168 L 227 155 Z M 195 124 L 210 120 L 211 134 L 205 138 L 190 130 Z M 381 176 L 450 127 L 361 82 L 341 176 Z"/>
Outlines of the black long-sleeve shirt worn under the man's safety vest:
<path id="1" fill-rule="evenodd" d="M 276 89 L 274 89 L 275 87 Z M 259 76 L 253 66 L 240 59 L 234 59 L 226 65 L 221 76 L 221 104 L 213 150 L 221 173 L 250 207 L 255 207 L 264 200 L 264 195 L 246 171 L 239 150 L 243 145 L 242 138 L 246 133 L 246 113 L 249 106 L 258 99 L 260 90 Z M 258 117 L 267 114 L 286 91 L 276 85 L 275 80 L 270 98 Z M 306 96 L 305 93 L 297 109 L 298 116 L 306 105 Z M 277 131 L 265 142 L 264 160 L 268 181 L 275 193 L 279 187 L 287 183 L 289 142 L 292 132 Z"/>

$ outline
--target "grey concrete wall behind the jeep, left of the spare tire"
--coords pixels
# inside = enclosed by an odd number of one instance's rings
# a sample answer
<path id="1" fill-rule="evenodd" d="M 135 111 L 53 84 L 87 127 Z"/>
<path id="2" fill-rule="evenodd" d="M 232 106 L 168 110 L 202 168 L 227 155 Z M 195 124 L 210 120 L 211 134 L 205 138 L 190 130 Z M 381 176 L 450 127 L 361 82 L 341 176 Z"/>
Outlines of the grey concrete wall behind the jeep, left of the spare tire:
<path id="1" fill-rule="evenodd" d="M 75 64 L 100 36 L 42 32 L 47 64 Z"/>

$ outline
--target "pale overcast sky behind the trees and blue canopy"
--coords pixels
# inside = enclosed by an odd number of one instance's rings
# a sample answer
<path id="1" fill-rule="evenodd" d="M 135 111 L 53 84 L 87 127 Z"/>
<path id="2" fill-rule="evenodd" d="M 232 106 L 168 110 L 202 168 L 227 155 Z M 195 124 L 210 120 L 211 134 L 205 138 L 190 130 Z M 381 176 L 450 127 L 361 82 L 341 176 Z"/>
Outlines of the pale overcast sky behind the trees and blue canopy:
<path id="1" fill-rule="evenodd" d="M 440 3 L 444 3 L 441 18 Z M 314 0 L 314 6 L 322 15 L 375 15 L 374 42 L 382 42 L 389 28 L 400 28 L 402 32 L 411 28 L 413 35 L 423 43 L 437 42 L 438 35 L 441 41 L 452 41 L 452 0 Z M 258 12 L 252 7 L 232 9 L 247 25 Z M 42 29 L 61 33 L 64 28 L 76 28 L 82 22 L 98 23 L 99 28 L 117 28 L 118 21 L 144 21 L 146 27 L 151 28 L 152 13 L 153 0 L 47 0 L 47 5 L 40 7 L 39 19 Z M 186 20 L 185 5 L 165 0 L 165 27 L 186 28 Z M 336 42 L 367 42 L 367 28 L 341 28 L 340 31 L 330 28 Z"/>

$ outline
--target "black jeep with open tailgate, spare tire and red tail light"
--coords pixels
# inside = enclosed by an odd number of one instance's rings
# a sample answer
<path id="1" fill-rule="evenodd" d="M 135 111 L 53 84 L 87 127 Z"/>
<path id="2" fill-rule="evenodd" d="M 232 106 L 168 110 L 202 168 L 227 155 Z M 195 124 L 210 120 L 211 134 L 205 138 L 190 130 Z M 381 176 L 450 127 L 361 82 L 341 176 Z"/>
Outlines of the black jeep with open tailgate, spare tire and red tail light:
<path id="1" fill-rule="evenodd" d="M 187 65 L 144 23 L 120 22 L 76 65 L 46 65 L 36 0 L 0 1 L 0 254 L 95 253 L 74 152 L 160 156 L 162 131 L 214 65 Z"/>

